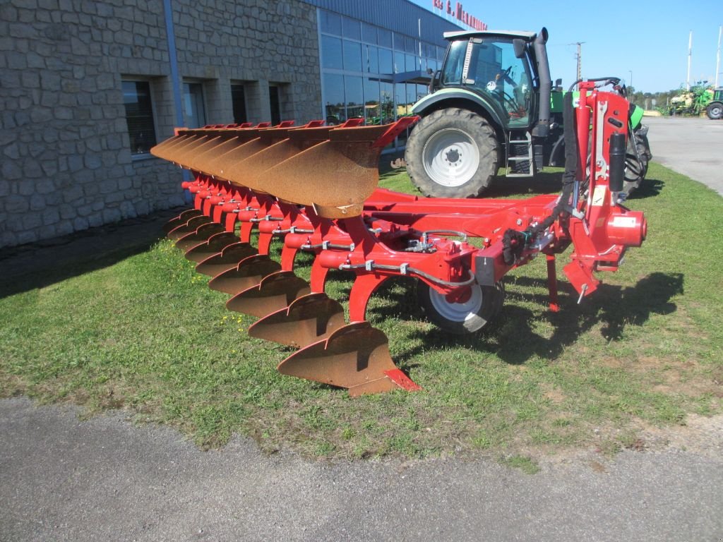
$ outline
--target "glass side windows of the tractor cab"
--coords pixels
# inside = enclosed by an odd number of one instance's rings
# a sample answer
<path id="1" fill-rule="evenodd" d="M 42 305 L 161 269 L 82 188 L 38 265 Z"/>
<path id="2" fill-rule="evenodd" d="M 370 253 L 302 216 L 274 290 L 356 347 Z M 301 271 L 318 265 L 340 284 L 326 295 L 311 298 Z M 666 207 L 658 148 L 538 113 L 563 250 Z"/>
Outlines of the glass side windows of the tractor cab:
<path id="1" fill-rule="evenodd" d="M 472 38 L 453 43 L 442 84 L 472 87 L 497 103 L 497 111 L 507 116 L 510 126 L 529 125 L 531 71 L 526 58 L 515 56 L 511 39 Z"/>

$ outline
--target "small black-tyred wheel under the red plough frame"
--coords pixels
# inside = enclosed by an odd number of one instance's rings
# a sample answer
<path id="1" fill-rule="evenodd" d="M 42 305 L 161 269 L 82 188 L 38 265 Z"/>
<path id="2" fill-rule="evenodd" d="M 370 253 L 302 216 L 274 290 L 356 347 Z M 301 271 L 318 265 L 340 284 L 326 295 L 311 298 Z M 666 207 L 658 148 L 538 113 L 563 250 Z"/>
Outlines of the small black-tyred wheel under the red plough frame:
<path id="1" fill-rule="evenodd" d="M 502 310 L 505 288 L 471 285 L 471 295 L 463 303 L 450 303 L 444 294 L 419 281 L 416 289 L 419 304 L 429 322 L 453 335 L 469 335 L 489 325 Z"/>

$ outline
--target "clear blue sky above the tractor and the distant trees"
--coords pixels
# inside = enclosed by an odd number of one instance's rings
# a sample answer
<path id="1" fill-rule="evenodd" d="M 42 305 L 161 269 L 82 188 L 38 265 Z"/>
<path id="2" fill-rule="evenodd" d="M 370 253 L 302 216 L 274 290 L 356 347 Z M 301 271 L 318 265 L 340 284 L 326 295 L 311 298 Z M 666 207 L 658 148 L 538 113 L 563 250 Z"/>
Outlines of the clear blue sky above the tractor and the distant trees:
<path id="1" fill-rule="evenodd" d="M 432 0 L 411 0 L 432 11 Z M 568 87 L 576 79 L 576 42 L 582 45 L 582 76 L 617 76 L 643 92 L 685 85 L 688 33 L 693 30 L 690 80 L 708 79 L 716 71 L 718 29 L 723 3 L 713 0 L 638 2 L 562 2 L 460 0 L 464 11 L 487 23 L 489 30 L 549 30 L 547 50 L 552 79 Z M 457 0 L 452 0 L 455 9 Z M 446 0 L 445 0 L 446 5 Z M 721 60 L 723 71 L 723 59 Z M 723 74 L 719 74 L 723 85 Z"/>

